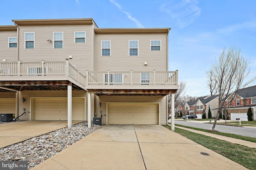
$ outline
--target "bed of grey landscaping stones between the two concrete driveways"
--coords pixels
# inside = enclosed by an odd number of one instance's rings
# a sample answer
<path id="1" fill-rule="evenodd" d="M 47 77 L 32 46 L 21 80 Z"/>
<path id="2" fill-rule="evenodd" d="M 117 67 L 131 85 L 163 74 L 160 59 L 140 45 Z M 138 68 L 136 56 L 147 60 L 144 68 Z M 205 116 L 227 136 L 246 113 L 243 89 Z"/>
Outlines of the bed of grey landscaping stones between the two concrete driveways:
<path id="1" fill-rule="evenodd" d="M 87 122 L 82 122 L 72 125 L 70 129 L 62 128 L 33 137 L 26 141 L 1 148 L 0 161 L 28 161 L 28 169 L 30 169 L 102 127 L 92 124 L 92 127 L 88 128 Z"/>

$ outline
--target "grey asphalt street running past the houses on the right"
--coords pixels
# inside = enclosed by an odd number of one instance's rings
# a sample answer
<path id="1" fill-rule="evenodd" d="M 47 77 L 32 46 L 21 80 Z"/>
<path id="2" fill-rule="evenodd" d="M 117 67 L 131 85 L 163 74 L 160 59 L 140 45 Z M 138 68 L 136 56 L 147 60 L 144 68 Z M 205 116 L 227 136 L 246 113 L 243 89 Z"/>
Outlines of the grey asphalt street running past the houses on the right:
<path id="1" fill-rule="evenodd" d="M 179 121 L 179 120 L 175 120 L 175 124 L 189 126 L 189 127 L 197 127 L 200 129 L 207 129 L 207 130 L 212 130 L 212 126 L 213 126 L 213 124 L 208 124 L 208 123 L 201 123 L 196 121 Z M 216 125 L 214 130 L 219 132 L 224 132 L 224 133 L 232 133 L 236 135 L 256 137 L 255 127 L 251 128 L 251 127 L 237 127 L 237 126 L 228 126 L 228 125 Z"/>

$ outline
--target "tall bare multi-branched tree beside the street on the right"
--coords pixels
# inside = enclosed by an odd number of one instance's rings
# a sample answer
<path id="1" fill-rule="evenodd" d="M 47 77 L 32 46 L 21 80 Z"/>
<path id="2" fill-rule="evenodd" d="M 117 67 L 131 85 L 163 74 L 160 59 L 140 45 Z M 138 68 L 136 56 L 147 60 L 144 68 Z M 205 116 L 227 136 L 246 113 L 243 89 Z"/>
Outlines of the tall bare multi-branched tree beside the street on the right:
<path id="1" fill-rule="evenodd" d="M 226 48 L 224 48 L 219 58 L 215 59 L 215 63 L 213 63 L 210 70 L 206 72 L 208 88 L 210 88 L 211 94 L 218 95 L 219 100 L 218 113 L 212 131 L 214 131 L 220 113 L 226 108 L 225 100 L 228 94 L 256 80 L 256 77 L 254 77 L 243 84 L 244 79 L 247 78 L 250 73 L 248 64 L 249 61 L 244 59 L 240 49 L 237 50 L 234 47 L 230 47 L 230 49 L 226 50 Z"/>

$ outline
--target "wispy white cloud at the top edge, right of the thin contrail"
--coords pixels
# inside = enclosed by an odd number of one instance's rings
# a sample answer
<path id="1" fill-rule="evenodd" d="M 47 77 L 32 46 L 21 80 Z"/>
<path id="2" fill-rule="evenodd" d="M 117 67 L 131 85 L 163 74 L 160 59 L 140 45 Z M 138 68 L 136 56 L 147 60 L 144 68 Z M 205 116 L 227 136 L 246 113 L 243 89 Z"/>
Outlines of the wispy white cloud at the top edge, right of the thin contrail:
<path id="1" fill-rule="evenodd" d="M 173 2 L 174 1 L 162 4 L 160 10 L 175 19 L 180 28 L 190 25 L 201 14 L 201 9 L 198 8 L 198 2 L 196 0 Z"/>

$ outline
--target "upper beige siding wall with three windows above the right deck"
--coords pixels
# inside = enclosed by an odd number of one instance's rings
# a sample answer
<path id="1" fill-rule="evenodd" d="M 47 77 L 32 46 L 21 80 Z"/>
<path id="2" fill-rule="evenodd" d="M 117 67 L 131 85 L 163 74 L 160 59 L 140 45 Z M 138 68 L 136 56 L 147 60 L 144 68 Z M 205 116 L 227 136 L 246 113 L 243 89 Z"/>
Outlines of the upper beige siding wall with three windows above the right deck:
<path id="1" fill-rule="evenodd" d="M 166 37 L 166 34 L 96 34 L 96 70 L 167 71 Z M 101 56 L 102 40 L 111 41 L 111 56 Z M 129 40 L 138 40 L 138 56 L 129 56 Z M 150 40 L 161 40 L 161 51 L 150 51 Z"/>

